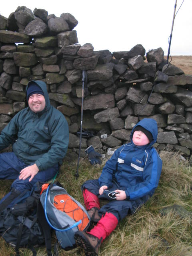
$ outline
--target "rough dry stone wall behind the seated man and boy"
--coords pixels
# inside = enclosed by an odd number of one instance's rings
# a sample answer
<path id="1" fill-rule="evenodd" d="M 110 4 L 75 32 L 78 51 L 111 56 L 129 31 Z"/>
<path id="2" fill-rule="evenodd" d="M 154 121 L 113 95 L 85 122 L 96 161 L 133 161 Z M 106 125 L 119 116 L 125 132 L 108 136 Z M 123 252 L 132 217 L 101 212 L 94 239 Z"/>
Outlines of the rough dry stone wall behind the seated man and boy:
<path id="1" fill-rule="evenodd" d="M 142 118 L 158 123 L 159 150 L 192 151 L 192 76 L 166 64 L 162 48 L 141 44 L 128 51 L 94 51 L 78 44 L 72 14 L 48 15 L 43 9 L 19 6 L 8 18 L 0 15 L 0 130 L 27 106 L 25 88 L 43 80 L 51 104 L 69 124 L 68 156 L 79 147 L 82 70 L 86 70 L 83 128 L 95 136 L 82 138 L 105 153 L 130 141 L 133 126 Z M 146 56 L 146 57 L 145 57 Z"/>

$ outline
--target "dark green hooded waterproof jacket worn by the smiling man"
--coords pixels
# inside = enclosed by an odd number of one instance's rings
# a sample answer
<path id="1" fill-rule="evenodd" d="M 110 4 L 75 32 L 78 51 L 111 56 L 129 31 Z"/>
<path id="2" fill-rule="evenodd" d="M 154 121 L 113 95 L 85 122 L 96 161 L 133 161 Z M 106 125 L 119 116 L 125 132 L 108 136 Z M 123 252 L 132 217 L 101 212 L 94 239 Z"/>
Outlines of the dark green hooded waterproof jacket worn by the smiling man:
<path id="1" fill-rule="evenodd" d="M 46 170 L 60 163 L 66 155 L 68 123 L 64 115 L 50 104 L 46 84 L 30 82 L 41 87 L 46 106 L 37 113 L 29 107 L 18 112 L 1 132 L 0 150 L 12 144 L 13 152 L 25 164 L 35 163 L 39 170 Z"/>

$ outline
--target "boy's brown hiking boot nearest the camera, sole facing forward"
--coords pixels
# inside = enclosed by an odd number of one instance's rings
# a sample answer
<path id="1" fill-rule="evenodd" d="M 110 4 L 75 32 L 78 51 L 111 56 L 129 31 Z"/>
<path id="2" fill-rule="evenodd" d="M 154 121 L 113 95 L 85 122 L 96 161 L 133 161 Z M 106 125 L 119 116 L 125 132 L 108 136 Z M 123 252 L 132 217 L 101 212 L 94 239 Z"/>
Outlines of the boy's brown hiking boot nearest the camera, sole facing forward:
<path id="1" fill-rule="evenodd" d="M 102 238 L 97 238 L 83 231 L 74 234 L 76 244 L 85 250 L 86 256 L 97 256 Z"/>

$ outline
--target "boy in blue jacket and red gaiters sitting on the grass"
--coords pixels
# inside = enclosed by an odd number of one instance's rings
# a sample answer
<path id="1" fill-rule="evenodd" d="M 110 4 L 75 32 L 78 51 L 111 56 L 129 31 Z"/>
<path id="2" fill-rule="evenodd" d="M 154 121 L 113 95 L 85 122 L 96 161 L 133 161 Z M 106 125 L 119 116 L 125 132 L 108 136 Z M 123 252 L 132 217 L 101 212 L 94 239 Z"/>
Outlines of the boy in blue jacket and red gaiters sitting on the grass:
<path id="1" fill-rule="evenodd" d="M 92 222 L 97 222 L 90 232 L 75 234 L 76 244 L 87 256 L 98 255 L 100 244 L 118 222 L 133 214 L 154 194 L 162 169 L 162 160 L 152 147 L 157 134 L 154 119 L 138 122 L 131 132 L 131 142 L 114 152 L 100 178 L 82 185 L 86 209 Z M 100 208 L 99 198 L 110 201 Z"/>

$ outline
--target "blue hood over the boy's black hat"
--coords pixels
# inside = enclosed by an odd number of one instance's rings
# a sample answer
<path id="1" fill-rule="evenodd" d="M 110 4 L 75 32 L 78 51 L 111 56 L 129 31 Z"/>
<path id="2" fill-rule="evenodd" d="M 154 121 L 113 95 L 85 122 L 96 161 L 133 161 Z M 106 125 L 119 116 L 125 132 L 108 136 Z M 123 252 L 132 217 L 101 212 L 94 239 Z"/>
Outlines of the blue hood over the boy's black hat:
<path id="1" fill-rule="evenodd" d="M 143 128 L 145 128 L 146 130 L 148 130 L 152 134 L 153 140 L 149 144 L 150 146 L 152 146 L 157 140 L 157 134 L 158 134 L 157 122 L 152 118 L 144 118 L 140 122 L 138 122 L 134 126 L 134 128 L 136 128 L 138 125 L 142 126 Z M 132 129 L 132 132 L 131 132 L 131 135 L 130 135 L 131 142 L 132 142 L 132 138 L 133 138 L 134 128 Z"/>

